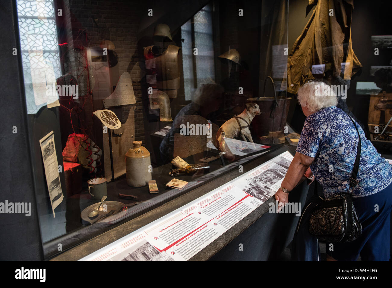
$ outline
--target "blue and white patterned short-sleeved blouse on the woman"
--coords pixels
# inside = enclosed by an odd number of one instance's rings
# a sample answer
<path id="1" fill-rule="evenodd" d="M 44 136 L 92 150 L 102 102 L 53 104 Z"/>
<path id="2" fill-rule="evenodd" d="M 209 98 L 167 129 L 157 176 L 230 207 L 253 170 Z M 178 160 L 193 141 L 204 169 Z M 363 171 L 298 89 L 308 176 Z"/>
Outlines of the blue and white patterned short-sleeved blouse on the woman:
<path id="1" fill-rule="evenodd" d="M 361 126 L 361 160 L 353 197 L 377 193 L 392 182 L 392 165 L 377 153 Z M 350 117 L 336 106 L 310 114 L 303 126 L 297 152 L 313 157 L 310 165 L 323 185 L 325 197 L 348 192 L 358 146 L 358 133 Z"/>

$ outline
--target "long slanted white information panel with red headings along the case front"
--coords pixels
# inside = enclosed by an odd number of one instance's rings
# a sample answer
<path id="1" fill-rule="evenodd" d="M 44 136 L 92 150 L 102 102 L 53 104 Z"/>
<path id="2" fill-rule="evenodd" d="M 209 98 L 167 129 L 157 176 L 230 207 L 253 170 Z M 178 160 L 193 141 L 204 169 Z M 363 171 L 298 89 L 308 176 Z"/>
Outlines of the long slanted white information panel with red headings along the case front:
<path id="1" fill-rule="evenodd" d="M 187 261 L 274 195 L 286 151 L 80 261 Z"/>

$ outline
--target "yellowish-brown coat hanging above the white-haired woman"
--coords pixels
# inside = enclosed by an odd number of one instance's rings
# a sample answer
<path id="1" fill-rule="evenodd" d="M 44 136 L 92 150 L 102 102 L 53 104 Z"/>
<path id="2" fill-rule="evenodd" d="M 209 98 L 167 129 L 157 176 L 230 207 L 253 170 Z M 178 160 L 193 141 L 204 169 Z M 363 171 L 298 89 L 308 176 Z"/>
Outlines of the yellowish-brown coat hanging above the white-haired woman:
<path id="1" fill-rule="evenodd" d="M 292 94 L 308 80 L 325 74 L 348 80 L 362 67 L 351 44 L 353 0 L 309 0 L 309 5 L 316 7 L 287 61 Z"/>

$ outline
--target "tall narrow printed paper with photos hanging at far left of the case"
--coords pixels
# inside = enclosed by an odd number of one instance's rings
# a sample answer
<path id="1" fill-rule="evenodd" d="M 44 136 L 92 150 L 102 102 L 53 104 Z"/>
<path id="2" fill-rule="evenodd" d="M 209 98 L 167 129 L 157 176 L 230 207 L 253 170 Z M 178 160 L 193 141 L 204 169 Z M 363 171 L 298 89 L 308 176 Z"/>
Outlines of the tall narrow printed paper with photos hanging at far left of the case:
<path id="1" fill-rule="evenodd" d="M 44 160 L 46 183 L 49 191 L 49 198 L 52 205 L 53 218 L 56 208 L 64 199 L 60 184 L 60 174 L 58 173 L 58 162 L 56 148 L 54 146 L 54 133 L 51 131 L 40 140 L 42 159 Z"/>

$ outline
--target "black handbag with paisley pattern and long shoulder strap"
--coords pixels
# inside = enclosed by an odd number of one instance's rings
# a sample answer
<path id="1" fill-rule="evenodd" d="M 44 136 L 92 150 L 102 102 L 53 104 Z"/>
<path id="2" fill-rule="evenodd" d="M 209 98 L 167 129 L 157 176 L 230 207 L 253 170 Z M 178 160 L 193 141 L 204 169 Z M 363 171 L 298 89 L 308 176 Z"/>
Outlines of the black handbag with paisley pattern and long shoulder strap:
<path id="1" fill-rule="evenodd" d="M 359 138 L 357 156 L 350 178 L 350 190 L 325 198 L 314 207 L 309 220 L 310 234 L 325 242 L 350 242 L 357 239 L 362 233 L 362 225 L 352 202 L 352 189 L 358 184 L 356 178 L 361 158 L 361 136 L 354 120 L 351 117 L 350 119 L 354 123 Z"/>

